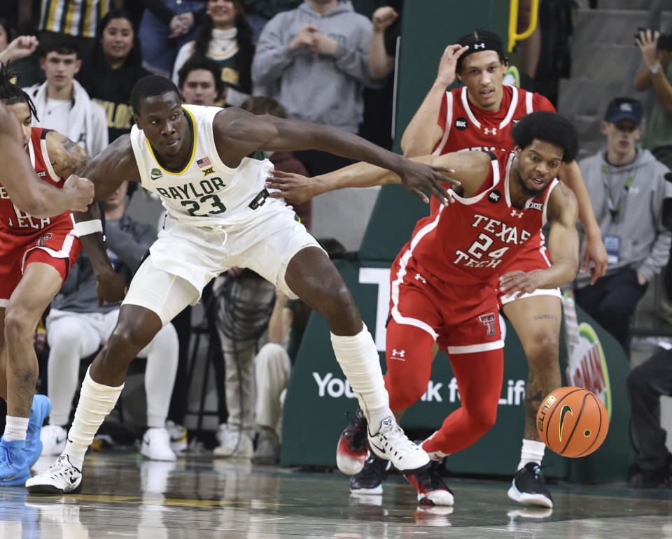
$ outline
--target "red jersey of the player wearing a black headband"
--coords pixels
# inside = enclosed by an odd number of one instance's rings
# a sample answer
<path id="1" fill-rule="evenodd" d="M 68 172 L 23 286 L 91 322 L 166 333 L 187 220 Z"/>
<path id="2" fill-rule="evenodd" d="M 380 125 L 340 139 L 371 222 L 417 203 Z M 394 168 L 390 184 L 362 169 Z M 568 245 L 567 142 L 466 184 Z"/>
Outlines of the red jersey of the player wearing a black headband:
<path id="1" fill-rule="evenodd" d="M 513 150 L 510 131 L 521 117 L 535 110 L 555 112 L 551 102 L 541 94 L 507 85 L 503 89 L 502 105 L 497 112 L 472 107 L 466 86 L 446 92 L 437 120 L 443 136 L 436 143 L 433 154 L 460 150 Z"/>

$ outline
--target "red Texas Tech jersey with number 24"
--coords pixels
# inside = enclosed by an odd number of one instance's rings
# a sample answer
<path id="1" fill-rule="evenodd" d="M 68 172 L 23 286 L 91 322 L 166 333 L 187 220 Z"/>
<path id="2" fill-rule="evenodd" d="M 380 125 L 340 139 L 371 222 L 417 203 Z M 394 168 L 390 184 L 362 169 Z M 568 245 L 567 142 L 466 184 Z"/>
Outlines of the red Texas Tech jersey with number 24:
<path id="1" fill-rule="evenodd" d="M 490 172 L 478 191 L 468 198 L 453 194 L 455 203 L 440 206 L 416 224 L 409 245 L 409 257 L 417 264 L 456 285 L 490 282 L 521 252 L 540 249 L 538 232 L 546 223 L 548 199 L 558 184 L 555 178 L 524 208 L 515 208 L 509 195 L 514 154 L 489 154 Z"/>

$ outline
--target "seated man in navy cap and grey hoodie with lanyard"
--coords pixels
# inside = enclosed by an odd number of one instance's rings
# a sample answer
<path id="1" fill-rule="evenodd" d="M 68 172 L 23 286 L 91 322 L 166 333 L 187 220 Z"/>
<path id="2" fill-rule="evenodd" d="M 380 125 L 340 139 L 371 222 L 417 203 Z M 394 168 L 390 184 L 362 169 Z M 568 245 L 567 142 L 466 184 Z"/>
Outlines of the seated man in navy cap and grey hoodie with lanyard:
<path id="1" fill-rule="evenodd" d="M 671 233 L 662 223 L 662 204 L 672 192 L 668 168 L 649 150 L 638 148 L 642 105 L 613 99 L 601 128 L 607 148 L 579 162 L 608 253 L 605 277 L 589 287 L 577 275 L 577 303 L 629 349 L 629 326 L 648 282 L 666 264 Z M 582 227 L 579 227 L 584 247 Z"/>

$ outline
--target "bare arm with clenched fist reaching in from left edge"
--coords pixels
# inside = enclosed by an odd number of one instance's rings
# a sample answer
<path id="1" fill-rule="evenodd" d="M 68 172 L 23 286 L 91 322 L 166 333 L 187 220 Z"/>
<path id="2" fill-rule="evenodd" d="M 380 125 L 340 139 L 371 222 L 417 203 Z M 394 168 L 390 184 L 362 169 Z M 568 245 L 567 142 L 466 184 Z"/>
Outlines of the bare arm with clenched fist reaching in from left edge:
<path id="1" fill-rule="evenodd" d="M 93 196 L 89 180 L 71 176 L 57 189 L 35 173 L 21 141 L 21 127 L 10 110 L 0 105 L 0 183 L 12 202 L 34 217 L 53 217 L 68 210 L 82 210 Z"/>

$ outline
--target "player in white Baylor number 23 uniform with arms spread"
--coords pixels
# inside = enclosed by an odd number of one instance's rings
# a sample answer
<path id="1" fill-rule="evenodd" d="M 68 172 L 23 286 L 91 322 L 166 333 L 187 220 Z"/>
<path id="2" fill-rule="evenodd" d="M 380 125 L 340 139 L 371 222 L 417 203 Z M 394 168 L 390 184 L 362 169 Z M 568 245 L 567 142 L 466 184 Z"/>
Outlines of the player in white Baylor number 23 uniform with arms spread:
<path id="1" fill-rule="evenodd" d="M 402 470 L 423 470 L 429 457 L 396 424 L 378 352 L 349 290 L 327 254 L 283 201 L 267 198 L 272 164 L 258 150 L 323 150 L 388 168 L 410 192 L 428 189 L 447 203 L 445 178 L 430 166 L 332 127 L 238 108 L 183 106 L 175 85 L 145 77 L 132 92 L 130 135 L 118 138 L 85 169 L 95 199 L 120 182 L 141 182 L 167 209 L 165 229 L 133 278 L 112 336 L 81 389 L 68 443 L 57 461 L 26 482 L 31 492 L 64 494 L 80 486 L 84 453 L 123 389 L 137 352 L 203 287 L 232 266 L 250 268 L 329 323 L 335 356 L 365 410 L 372 446 Z M 119 301 L 124 283 L 102 243 L 97 207 L 75 219 L 97 278 L 99 301 Z"/>

